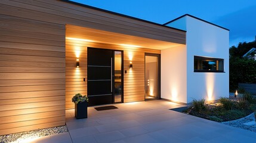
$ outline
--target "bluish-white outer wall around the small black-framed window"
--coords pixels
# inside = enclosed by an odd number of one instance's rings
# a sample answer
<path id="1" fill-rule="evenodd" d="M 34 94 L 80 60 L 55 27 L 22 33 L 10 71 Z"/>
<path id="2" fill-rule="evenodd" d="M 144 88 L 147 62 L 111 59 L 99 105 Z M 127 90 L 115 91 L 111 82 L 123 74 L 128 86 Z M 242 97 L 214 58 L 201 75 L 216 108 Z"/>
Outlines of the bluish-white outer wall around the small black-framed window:
<path id="1" fill-rule="evenodd" d="M 229 97 L 229 31 L 186 17 L 187 102 Z M 223 58 L 224 73 L 194 72 L 194 55 Z"/>

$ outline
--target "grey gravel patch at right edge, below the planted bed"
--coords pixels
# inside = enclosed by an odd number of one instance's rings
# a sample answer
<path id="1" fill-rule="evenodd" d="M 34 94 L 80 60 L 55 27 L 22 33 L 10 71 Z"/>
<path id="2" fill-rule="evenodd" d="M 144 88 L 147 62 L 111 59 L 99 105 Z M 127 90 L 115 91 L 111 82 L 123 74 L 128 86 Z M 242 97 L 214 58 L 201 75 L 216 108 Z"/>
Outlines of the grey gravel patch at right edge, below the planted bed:
<path id="1" fill-rule="evenodd" d="M 227 122 L 222 122 L 222 123 L 226 124 L 226 125 L 234 126 L 237 128 L 250 130 L 252 132 L 256 132 L 256 125 L 251 125 L 251 126 L 244 125 L 244 123 L 248 123 L 248 122 L 252 122 L 252 121 L 255 121 L 254 113 L 249 114 L 248 116 L 243 117 L 238 120 L 232 120 L 232 121 L 227 121 Z"/>

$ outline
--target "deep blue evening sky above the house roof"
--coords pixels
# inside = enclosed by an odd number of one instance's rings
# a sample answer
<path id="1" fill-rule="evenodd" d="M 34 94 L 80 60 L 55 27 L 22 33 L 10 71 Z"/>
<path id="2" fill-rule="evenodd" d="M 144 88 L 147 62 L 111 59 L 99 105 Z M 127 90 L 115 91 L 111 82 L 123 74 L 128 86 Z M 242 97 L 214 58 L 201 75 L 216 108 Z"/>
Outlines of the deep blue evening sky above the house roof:
<path id="1" fill-rule="evenodd" d="M 230 29 L 230 46 L 255 40 L 256 0 L 73 1 L 159 24 L 190 14 Z"/>

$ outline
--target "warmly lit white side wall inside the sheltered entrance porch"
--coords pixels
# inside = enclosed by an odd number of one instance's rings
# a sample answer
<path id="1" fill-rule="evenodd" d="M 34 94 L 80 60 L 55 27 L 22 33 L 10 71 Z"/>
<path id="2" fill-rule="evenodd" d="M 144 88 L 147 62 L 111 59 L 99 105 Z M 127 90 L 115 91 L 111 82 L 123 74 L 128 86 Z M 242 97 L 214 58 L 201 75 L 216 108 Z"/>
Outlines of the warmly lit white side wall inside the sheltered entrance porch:
<path id="1" fill-rule="evenodd" d="M 186 45 L 161 51 L 161 98 L 187 102 Z"/>

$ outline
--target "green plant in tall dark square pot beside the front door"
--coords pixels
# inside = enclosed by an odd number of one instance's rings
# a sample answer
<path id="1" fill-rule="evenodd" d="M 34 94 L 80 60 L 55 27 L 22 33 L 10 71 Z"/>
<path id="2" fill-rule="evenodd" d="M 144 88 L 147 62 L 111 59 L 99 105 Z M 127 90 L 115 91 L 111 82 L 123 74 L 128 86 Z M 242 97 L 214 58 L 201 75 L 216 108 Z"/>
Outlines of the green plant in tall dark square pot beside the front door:
<path id="1" fill-rule="evenodd" d="M 87 118 L 88 97 L 87 95 L 76 94 L 72 98 L 75 103 L 75 117 L 76 119 Z"/>

